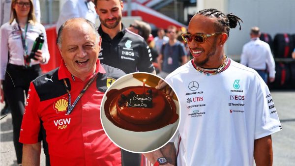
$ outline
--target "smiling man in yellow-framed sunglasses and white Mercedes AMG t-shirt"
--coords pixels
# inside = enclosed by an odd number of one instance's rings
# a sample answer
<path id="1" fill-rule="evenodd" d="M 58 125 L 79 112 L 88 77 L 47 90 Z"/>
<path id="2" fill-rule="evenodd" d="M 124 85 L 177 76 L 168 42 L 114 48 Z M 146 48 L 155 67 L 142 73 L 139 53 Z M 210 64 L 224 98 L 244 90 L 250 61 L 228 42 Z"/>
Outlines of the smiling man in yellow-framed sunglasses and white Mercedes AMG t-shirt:
<path id="1" fill-rule="evenodd" d="M 281 124 L 268 87 L 255 70 L 224 54 L 229 30 L 239 21 L 205 9 L 182 34 L 193 59 L 166 77 L 181 105 L 177 148 L 169 143 L 144 154 L 154 165 L 272 165 L 271 134 Z"/>

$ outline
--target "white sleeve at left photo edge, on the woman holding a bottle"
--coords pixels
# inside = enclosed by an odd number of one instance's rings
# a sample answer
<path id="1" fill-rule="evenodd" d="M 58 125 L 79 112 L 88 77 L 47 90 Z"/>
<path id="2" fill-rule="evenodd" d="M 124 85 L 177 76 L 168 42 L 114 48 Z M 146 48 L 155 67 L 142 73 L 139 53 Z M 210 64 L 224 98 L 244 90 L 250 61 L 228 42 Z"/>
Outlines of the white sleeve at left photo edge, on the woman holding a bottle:
<path id="1" fill-rule="evenodd" d="M 0 57 L 1 57 L 1 69 L 0 69 L 0 80 L 5 79 L 5 71 L 8 63 L 8 31 L 5 29 L 5 27 L 1 27 L 1 51 L 0 51 Z"/>

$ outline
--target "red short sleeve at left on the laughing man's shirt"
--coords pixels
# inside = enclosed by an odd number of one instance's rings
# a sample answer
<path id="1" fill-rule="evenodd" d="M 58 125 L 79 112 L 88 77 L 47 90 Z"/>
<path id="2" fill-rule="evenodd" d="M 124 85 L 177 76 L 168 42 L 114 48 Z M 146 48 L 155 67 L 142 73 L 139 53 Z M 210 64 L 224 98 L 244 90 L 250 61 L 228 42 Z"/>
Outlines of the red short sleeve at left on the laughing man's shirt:
<path id="1" fill-rule="evenodd" d="M 38 137 L 40 132 L 40 117 L 37 112 L 39 104 L 39 96 L 35 90 L 33 83 L 30 83 L 20 132 L 19 141 L 21 143 L 32 144 L 39 142 Z"/>

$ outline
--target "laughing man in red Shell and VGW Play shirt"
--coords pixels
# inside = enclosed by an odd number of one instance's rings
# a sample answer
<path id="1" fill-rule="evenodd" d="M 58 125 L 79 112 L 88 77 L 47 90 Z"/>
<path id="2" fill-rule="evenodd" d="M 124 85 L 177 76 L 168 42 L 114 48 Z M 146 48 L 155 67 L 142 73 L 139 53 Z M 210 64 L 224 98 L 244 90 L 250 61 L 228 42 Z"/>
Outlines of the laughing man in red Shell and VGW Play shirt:
<path id="1" fill-rule="evenodd" d="M 98 60 L 101 38 L 86 19 L 59 28 L 58 69 L 30 84 L 20 133 L 23 165 L 40 165 L 41 140 L 47 165 L 121 165 L 120 149 L 100 123 L 100 104 L 110 80 L 124 75 Z"/>

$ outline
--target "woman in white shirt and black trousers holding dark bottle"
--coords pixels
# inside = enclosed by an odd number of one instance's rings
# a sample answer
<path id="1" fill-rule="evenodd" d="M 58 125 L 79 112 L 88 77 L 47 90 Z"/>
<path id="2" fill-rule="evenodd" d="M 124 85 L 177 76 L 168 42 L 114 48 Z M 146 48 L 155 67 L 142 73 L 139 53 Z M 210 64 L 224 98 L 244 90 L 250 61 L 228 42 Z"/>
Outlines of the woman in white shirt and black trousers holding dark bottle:
<path id="1" fill-rule="evenodd" d="M 12 115 L 13 142 L 19 165 L 23 154 L 23 144 L 18 140 L 24 96 L 28 96 L 29 83 L 41 75 L 40 63 L 45 64 L 50 58 L 45 28 L 36 21 L 33 11 L 32 0 L 12 0 L 10 21 L 1 26 L 1 103 L 5 94 Z M 29 58 L 33 43 L 40 34 L 44 36 L 43 47 Z"/>

